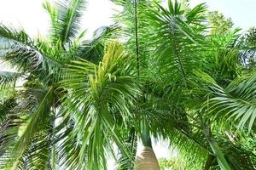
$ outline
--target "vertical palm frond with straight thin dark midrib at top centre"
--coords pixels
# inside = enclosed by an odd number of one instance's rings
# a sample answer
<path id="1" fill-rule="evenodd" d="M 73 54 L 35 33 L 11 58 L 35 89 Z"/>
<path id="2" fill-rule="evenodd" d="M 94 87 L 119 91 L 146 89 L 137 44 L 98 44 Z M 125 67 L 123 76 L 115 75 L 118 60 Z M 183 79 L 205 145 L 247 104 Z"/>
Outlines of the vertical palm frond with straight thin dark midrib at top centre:
<path id="1" fill-rule="evenodd" d="M 148 13 L 154 8 L 155 1 L 123 1 L 113 0 L 122 7 L 118 14 L 114 15 L 116 23 L 120 26 L 119 38 L 125 42 L 125 51 L 137 58 L 137 72 L 146 74 L 148 66 L 151 66 L 152 49 L 148 41 L 150 32 L 148 29 Z M 150 57 L 149 57 L 150 56 Z"/>

